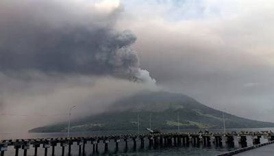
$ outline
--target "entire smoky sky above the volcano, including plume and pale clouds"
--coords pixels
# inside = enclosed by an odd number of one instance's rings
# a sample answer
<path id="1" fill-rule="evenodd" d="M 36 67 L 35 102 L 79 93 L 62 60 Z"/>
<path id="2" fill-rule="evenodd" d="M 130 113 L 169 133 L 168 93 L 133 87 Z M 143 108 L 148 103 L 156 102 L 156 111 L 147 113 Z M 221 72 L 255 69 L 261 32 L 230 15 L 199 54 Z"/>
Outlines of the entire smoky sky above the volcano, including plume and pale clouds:
<path id="1" fill-rule="evenodd" d="M 2 0 L 0 130 L 159 88 L 274 122 L 273 15 L 266 0 Z"/>

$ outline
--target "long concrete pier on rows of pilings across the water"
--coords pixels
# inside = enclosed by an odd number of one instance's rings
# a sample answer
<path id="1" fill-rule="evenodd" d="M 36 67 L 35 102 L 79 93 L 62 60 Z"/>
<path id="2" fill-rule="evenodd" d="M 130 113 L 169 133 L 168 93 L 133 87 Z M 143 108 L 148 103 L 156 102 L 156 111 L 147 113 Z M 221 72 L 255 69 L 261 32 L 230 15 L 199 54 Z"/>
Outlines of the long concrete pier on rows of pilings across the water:
<path id="1" fill-rule="evenodd" d="M 253 140 L 253 145 L 260 144 L 260 138 L 264 137 L 269 142 L 274 140 L 274 133 L 271 131 L 258 132 L 234 132 L 234 133 L 197 133 L 197 132 L 180 132 L 180 133 L 155 133 L 155 134 L 132 134 L 132 135 L 109 135 L 109 136 L 90 136 L 81 138 L 41 138 L 29 140 L 0 140 L 1 156 L 10 149 L 8 146 L 14 148 L 14 155 L 18 156 L 20 150 L 23 150 L 23 155 L 27 156 L 29 148 L 34 148 L 34 156 L 37 156 L 38 148 L 42 145 L 45 155 L 48 155 L 48 149 L 51 148 L 51 155 L 56 155 L 56 148 L 62 148 L 62 156 L 71 155 L 71 146 L 77 143 L 79 155 L 86 153 L 86 144 L 90 142 L 92 153 L 99 153 L 98 145 L 104 144 L 104 153 L 108 153 L 109 144 L 112 140 L 116 146 L 116 151 L 119 149 L 120 140 L 125 141 L 125 151 L 129 148 L 129 142 L 133 143 L 133 149 L 145 148 L 145 144 L 149 148 L 159 148 L 162 146 L 234 146 L 234 138 L 239 142 L 241 147 L 247 146 L 247 136 Z M 140 145 L 137 144 L 140 140 Z M 66 148 L 68 146 L 68 148 Z"/>

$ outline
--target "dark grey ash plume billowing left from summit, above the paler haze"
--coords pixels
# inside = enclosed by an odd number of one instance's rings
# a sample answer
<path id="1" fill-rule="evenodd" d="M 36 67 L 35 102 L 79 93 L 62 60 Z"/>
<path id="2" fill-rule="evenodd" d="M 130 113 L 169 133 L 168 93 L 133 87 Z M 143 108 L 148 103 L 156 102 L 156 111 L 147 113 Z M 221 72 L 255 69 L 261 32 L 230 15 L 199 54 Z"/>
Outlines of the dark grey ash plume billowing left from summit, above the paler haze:
<path id="1" fill-rule="evenodd" d="M 87 1 L 0 1 L 0 71 L 110 75 L 155 83 L 117 31 L 121 6 Z"/>

